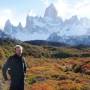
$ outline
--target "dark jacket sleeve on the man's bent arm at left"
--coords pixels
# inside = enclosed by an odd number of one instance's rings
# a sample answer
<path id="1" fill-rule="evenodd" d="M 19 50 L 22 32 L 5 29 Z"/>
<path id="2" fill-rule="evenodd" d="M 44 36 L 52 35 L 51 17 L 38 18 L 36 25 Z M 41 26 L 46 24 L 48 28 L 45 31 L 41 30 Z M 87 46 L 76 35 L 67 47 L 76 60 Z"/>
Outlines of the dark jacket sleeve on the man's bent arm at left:
<path id="1" fill-rule="evenodd" d="M 2 68 L 2 74 L 3 74 L 3 77 L 5 80 L 8 80 L 7 78 L 7 71 L 8 69 L 10 68 L 10 63 L 11 63 L 11 58 L 9 58 L 3 65 L 3 68 Z"/>

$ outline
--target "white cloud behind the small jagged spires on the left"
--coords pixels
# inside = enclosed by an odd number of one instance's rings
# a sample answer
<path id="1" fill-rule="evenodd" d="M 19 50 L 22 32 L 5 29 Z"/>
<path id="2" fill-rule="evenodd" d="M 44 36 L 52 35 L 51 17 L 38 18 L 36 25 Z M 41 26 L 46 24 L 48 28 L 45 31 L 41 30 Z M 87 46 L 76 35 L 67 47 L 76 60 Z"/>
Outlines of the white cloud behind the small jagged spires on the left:
<path id="1" fill-rule="evenodd" d="M 15 10 L 3 9 L 0 10 L 0 28 L 3 29 L 5 22 L 9 19 L 14 26 L 17 26 L 19 22 L 25 26 L 26 13 L 18 14 Z"/>

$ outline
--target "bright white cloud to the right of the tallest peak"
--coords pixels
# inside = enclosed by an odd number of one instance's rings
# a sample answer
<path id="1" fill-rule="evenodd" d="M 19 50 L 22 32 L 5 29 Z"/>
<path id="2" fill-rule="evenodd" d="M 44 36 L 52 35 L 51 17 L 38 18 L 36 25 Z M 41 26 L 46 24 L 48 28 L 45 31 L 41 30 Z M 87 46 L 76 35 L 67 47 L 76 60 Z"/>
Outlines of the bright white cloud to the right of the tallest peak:
<path id="1" fill-rule="evenodd" d="M 80 18 L 90 18 L 90 0 L 78 0 L 75 4 L 67 2 L 65 0 L 57 0 L 55 2 L 55 7 L 58 10 L 58 15 L 63 19 L 70 18 L 73 15 L 77 15 Z"/>

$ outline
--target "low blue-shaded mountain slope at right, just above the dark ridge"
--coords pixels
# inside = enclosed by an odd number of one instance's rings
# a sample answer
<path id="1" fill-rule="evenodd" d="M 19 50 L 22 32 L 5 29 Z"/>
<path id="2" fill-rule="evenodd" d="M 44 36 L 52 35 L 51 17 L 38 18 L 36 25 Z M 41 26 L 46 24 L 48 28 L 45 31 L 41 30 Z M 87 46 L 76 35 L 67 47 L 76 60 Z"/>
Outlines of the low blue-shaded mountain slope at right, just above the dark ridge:
<path id="1" fill-rule="evenodd" d="M 52 42 L 62 42 L 69 45 L 90 45 L 90 35 L 80 35 L 80 36 L 59 36 L 57 33 L 52 33 L 47 41 Z"/>

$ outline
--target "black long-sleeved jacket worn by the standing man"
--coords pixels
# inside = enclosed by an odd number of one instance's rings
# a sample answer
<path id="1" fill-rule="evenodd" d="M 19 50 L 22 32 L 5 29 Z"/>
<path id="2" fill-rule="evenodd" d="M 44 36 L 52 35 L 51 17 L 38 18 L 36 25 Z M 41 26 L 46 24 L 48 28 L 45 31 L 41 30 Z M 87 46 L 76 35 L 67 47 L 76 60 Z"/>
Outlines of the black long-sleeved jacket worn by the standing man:
<path id="1" fill-rule="evenodd" d="M 3 65 L 2 73 L 5 80 L 7 78 L 7 71 L 11 76 L 11 86 L 24 84 L 24 73 L 26 73 L 26 63 L 22 56 L 14 54 L 10 56 L 6 63 Z"/>

